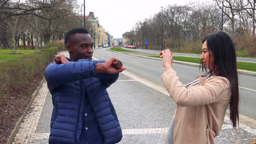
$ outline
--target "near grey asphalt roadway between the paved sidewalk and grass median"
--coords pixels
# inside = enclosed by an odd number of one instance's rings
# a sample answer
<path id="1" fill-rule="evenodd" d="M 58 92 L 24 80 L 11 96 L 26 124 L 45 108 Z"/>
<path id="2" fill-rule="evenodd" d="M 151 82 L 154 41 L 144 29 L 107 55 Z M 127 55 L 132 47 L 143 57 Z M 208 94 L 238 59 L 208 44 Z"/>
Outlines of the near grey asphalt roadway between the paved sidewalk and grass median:
<path id="1" fill-rule="evenodd" d="M 67 52 L 63 52 L 65 56 L 69 56 Z M 103 49 L 95 49 L 93 56 L 98 59 L 109 59 L 115 57 L 120 59 L 128 72 L 147 79 L 158 85 L 163 86 L 161 75 L 164 72 L 162 62 L 155 59 L 141 58 L 131 56 L 129 53 L 116 53 Z M 203 73 L 199 71 L 199 67 L 173 63 L 174 70 L 180 77 L 183 84 L 193 81 L 197 76 Z M 240 114 L 256 119 L 256 76 L 239 74 L 240 86 Z"/>

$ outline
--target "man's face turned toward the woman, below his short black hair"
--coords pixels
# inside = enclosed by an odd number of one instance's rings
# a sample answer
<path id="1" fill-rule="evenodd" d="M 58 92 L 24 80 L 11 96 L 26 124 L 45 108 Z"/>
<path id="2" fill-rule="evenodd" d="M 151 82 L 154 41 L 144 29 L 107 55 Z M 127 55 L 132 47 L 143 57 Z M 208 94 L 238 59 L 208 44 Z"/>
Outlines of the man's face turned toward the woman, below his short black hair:
<path id="1" fill-rule="evenodd" d="M 74 34 L 70 37 L 66 47 L 69 51 L 70 59 L 72 60 L 92 59 L 93 42 L 92 37 L 89 34 Z"/>

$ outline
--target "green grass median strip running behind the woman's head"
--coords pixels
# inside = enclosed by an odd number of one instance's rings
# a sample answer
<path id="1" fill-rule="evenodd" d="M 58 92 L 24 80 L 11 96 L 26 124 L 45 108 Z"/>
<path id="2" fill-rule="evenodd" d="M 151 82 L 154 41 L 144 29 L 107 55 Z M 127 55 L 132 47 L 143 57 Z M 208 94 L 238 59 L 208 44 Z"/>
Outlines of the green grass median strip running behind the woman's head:
<path id="1" fill-rule="evenodd" d="M 154 58 L 160 58 L 159 56 L 150 56 Z M 190 58 L 190 57 L 183 57 L 183 56 L 174 56 L 174 60 L 183 61 L 183 62 L 194 62 L 200 64 L 200 58 Z M 236 62 L 237 69 L 243 69 L 247 71 L 254 71 L 256 72 L 256 63 L 249 63 L 249 62 Z"/>

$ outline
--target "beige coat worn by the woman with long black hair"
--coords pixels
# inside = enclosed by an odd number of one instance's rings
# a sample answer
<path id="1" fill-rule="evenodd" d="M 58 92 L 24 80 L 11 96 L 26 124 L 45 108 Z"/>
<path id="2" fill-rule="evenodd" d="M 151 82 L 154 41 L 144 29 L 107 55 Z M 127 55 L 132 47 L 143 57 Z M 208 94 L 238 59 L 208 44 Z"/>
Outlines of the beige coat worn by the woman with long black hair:
<path id="1" fill-rule="evenodd" d="M 182 85 L 174 70 L 164 72 L 161 79 L 177 104 L 173 143 L 215 144 L 231 97 L 229 80 L 199 77 L 199 84 L 187 89 L 190 83 Z"/>

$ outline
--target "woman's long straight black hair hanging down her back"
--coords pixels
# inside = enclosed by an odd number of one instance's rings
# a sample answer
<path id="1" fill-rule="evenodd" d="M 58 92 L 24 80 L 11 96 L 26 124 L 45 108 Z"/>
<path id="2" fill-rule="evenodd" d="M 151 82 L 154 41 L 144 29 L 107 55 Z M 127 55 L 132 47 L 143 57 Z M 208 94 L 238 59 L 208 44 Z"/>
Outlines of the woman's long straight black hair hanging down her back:
<path id="1" fill-rule="evenodd" d="M 226 33 L 213 33 L 203 39 L 203 43 L 207 42 L 207 49 L 213 53 L 214 62 L 213 68 L 209 68 L 210 72 L 217 76 L 223 76 L 230 82 L 231 100 L 230 100 L 230 121 L 232 121 L 233 128 L 236 128 L 236 121 L 239 122 L 239 89 L 238 89 L 238 75 L 236 67 L 236 49 L 233 41 Z M 210 56 L 210 55 L 209 55 Z M 209 58 L 210 61 L 210 58 Z M 209 67 L 210 67 L 209 62 Z M 200 62 L 200 68 L 206 70 L 203 61 Z M 217 67 L 217 68 L 216 68 Z"/>

